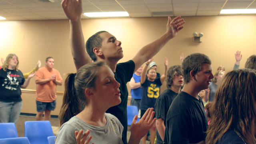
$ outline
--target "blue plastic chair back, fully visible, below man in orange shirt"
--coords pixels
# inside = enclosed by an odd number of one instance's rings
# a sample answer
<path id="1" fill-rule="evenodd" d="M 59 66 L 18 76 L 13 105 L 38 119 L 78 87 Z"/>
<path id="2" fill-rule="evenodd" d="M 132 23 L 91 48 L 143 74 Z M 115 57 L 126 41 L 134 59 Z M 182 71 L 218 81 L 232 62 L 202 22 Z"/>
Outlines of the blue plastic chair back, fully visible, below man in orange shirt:
<path id="1" fill-rule="evenodd" d="M 48 136 L 54 136 L 49 121 L 28 121 L 25 124 L 24 136 L 30 144 L 48 144 Z"/>

